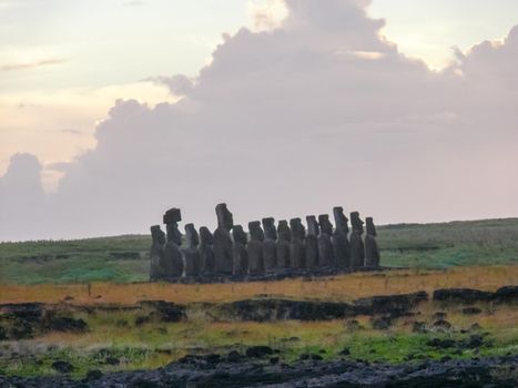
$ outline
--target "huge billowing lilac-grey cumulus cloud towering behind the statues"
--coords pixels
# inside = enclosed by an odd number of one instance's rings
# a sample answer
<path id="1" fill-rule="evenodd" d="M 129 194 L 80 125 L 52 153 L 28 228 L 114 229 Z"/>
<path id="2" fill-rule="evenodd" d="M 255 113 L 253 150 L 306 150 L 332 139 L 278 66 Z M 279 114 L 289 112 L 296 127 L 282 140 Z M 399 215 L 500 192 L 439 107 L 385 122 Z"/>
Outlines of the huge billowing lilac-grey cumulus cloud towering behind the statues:
<path id="1" fill-rule="evenodd" d="M 240 223 L 336 204 L 379 222 L 516 215 L 516 29 L 437 73 L 368 4 L 286 0 L 280 27 L 227 37 L 196 79 L 154 79 L 180 101 L 118 101 L 48 198 L 49 234 L 143 232 L 173 205 L 213 226 L 222 201 Z"/>

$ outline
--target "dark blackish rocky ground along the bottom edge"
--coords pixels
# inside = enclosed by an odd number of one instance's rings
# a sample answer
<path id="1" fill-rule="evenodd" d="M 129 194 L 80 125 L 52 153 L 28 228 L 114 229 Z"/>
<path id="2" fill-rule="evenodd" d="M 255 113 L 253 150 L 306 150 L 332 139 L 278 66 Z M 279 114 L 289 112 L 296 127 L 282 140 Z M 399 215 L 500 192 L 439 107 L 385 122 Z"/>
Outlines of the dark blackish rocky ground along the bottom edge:
<path id="1" fill-rule="evenodd" d="M 261 349 L 258 349 L 261 350 Z M 271 351 L 248 356 L 187 356 L 149 371 L 102 375 L 92 370 L 81 381 L 63 377 L 1 377 L 1 387 L 500 387 L 518 386 L 518 356 L 424 361 L 389 366 L 355 361 L 299 361 L 280 365 Z M 254 357 L 258 356 L 258 357 Z"/>

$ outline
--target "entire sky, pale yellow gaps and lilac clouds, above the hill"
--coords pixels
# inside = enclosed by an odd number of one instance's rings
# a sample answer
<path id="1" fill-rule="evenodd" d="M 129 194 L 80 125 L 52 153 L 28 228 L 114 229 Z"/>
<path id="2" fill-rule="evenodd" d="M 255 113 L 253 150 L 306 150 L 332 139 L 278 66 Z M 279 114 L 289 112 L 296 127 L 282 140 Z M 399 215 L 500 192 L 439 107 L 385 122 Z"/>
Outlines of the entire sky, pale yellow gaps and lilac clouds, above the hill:
<path id="1" fill-rule="evenodd" d="M 0 0 L 0 241 L 517 216 L 514 0 Z"/>

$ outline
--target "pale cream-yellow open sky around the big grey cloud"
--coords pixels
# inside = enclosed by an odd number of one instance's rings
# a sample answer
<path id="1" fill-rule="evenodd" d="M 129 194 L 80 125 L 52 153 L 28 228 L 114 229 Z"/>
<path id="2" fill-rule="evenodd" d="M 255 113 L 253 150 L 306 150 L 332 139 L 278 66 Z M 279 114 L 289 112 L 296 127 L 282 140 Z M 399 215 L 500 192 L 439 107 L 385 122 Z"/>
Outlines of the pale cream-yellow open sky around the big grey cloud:
<path id="1" fill-rule="evenodd" d="M 240 28 L 282 27 L 287 8 L 281 0 L 0 0 L 0 176 L 13 154 L 30 153 L 43 166 L 44 190 L 55 192 L 64 174 L 57 165 L 95 150 L 115 100 L 174 103 L 179 96 L 152 80 L 196 78 Z M 366 11 L 385 20 L 377 33 L 433 72 L 455 65 L 454 48 L 504 42 L 518 24 L 516 0 L 374 0 Z"/>

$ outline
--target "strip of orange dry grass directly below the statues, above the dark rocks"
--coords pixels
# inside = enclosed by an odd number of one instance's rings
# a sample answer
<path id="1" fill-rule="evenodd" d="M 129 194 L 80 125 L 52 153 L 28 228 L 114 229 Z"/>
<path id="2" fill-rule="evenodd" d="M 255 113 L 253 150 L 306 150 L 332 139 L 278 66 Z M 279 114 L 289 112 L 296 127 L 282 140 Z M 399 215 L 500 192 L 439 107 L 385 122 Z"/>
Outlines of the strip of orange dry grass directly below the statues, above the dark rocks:
<path id="1" fill-rule="evenodd" d="M 468 287 L 496 290 L 518 284 L 518 266 L 455 267 L 448 270 L 389 270 L 356 273 L 313 280 L 285 279 L 233 284 L 70 284 L 0 285 L 0 303 L 59 303 L 72 297 L 73 304 L 124 304 L 162 299 L 174 303 L 232 302 L 261 294 L 273 296 L 352 300 L 359 297 L 404 294 L 437 288 Z"/>

